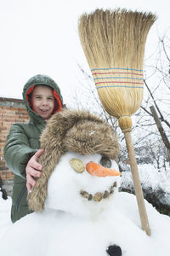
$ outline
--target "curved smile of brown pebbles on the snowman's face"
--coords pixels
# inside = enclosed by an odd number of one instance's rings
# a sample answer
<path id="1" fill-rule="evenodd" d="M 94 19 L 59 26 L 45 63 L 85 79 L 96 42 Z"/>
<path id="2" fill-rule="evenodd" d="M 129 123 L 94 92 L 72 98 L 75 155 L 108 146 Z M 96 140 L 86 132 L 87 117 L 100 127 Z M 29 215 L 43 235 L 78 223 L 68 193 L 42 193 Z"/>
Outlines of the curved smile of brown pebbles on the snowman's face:
<path id="1" fill-rule="evenodd" d="M 103 199 L 109 198 L 111 194 L 114 193 L 114 188 L 116 188 L 116 182 L 114 182 L 108 190 L 105 192 L 97 192 L 94 195 L 89 194 L 87 191 L 81 190 L 80 195 L 83 198 L 86 198 L 88 201 L 101 201 Z"/>

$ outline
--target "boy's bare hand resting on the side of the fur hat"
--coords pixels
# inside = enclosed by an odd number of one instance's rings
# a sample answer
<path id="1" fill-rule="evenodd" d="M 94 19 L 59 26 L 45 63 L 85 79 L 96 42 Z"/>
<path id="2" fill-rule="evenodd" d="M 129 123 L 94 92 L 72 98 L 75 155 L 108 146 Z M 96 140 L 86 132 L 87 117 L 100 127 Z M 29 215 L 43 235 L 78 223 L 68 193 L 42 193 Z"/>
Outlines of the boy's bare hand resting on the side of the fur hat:
<path id="1" fill-rule="evenodd" d="M 37 160 L 44 152 L 43 149 L 37 150 L 36 154 L 32 155 L 26 166 L 26 188 L 28 193 L 31 192 L 31 187 L 36 185 L 34 177 L 41 177 L 42 165 Z"/>

